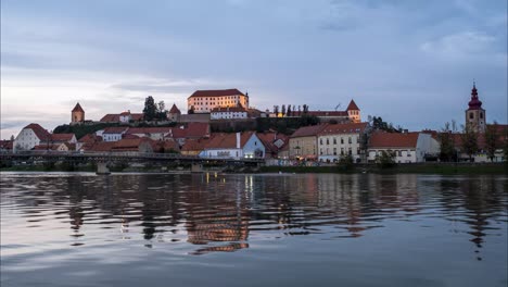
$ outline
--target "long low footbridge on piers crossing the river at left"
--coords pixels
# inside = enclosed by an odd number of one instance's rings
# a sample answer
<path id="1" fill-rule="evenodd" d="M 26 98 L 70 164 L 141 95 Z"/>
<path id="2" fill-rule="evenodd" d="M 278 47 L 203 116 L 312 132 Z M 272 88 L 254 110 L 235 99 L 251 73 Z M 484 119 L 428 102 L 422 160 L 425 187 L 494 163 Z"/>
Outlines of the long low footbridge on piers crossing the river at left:
<path id="1" fill-rule="evenodd" d="M 53 150 L 30 150 L 17 152 L 1 152 L 1 161 L 14 162 L 69 162 L 89 163 L 98 165 L 98 173 L 109 173 L 107 164 L 111 163 L 190 163 L 191 171 L 202 171 L 203 163 L 216 163 L 224 165 L 250 165 L 258 166 L 265 163 L 258 158 L 231 158 L 231 157 L 198 157 L 183 155 L 179 153 L 149 153 L 149 152 L 78 152 L 78 151 L 53 151 Z"/>

